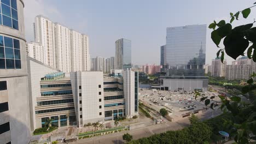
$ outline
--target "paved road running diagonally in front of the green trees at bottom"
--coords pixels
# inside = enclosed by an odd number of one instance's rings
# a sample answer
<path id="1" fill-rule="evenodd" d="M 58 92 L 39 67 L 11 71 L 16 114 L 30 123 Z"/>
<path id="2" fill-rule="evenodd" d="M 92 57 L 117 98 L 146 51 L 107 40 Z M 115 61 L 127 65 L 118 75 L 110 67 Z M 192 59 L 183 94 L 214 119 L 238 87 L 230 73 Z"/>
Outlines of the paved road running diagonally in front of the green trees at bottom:
<path id="1" fill-rule="evenodd" d="M 212 113 L 212 110 L 208 110 L 206 113 L 203 113 L 200 118 L 202 120 L 209 119 L 212 116 L 217 116 L 220 113 L 219 110 L 215 110 Z M 78 140 L 75 143 L 88 143 L 88 144 L 96 144 L 96 143 L 106 143 L 106 144 L 113 144 L 117 143 L 117 139 L 119 139 L 118 143 L 124 143 L 123 141 L 123 134 L 129 133 L 133 136 L 133 140 L 140 139 L 142 137 L 148 137 L 153 134 L 159 134 L 159 133 L 164 133 L 165 131 L 168 130 L 179 130 L 184 127 L 187 127 L 189 125 L 189 120 L 188 118 L 184 118 L 179 122 L 166 122 L 162 124 L 157 124 L 157 125 L 150 125 L 148 127 L 144 127 L 141 129 L 135 129 L 135 130 L 129 130 L 129 131 L 121 131 L 120 133 L 114 133 L 114 134 L 109 134 L 109 135 L 103 135 L 103 136 L 96 136 L 94 138 L 90 139 L 81 139 Z"/>

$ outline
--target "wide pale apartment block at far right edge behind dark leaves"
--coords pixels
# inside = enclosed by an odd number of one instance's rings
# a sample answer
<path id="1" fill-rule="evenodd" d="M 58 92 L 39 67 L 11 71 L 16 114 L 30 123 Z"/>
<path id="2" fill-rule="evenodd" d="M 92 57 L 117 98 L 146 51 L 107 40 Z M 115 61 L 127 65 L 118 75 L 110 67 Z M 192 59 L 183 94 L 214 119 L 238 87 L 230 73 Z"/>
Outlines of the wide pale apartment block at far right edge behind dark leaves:
<path id="1" fill-rule="evenodd" d="M 246 56 L 238 58 L 232 65 L 226 65 L 227 80 L 247 80 L 256 71 L 255 62 Z"/>

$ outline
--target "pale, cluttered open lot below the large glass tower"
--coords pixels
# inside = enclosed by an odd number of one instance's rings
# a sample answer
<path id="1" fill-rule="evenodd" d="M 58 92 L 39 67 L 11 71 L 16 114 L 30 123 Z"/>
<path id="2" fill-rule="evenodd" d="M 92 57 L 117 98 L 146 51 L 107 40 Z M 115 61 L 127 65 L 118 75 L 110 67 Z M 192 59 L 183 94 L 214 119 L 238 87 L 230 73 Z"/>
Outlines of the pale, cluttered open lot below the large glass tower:
<path id="1" fill-rule="evenodd" d="M 215 100 L 220 100 L 217 92 L 201 92 L 201 95 L 209 98 L 216 96 Z M 142 88 L 139 91 L 139 100 L 144 105 L 158 112 L 165 108 L 169 116 L 176 120 L 187 117 L 190 113 L 207 111 L 210 107 L 205 106 L 204 101 L 199 99 L 195 100 L 194 92 L 160 91 L 147 88 Z"/>

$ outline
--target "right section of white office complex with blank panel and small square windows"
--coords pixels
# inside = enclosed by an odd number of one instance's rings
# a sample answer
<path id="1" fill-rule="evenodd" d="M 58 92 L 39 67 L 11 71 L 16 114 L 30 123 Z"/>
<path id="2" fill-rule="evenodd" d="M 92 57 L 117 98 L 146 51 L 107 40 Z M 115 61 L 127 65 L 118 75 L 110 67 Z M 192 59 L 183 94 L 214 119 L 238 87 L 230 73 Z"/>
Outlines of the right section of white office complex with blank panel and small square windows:
<path id="1" fill-rule="evenodd" d="M 138 73 L 119 70 L 113 76 L 103 71 L 71 73 L 78 127 L 89 122 L 104 122 L 138 115 Z"/>

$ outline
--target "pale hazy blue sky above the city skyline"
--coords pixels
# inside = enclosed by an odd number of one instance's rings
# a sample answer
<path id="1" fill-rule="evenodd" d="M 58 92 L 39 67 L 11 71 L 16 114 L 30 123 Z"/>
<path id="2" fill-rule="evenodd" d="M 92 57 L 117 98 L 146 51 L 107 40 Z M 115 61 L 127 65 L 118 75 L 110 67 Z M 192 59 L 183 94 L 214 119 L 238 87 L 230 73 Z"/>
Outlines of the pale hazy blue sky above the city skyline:
<path id="1" fill-rule="evenodd" d="M 33 22 L 44 15 L 54 22 L 89 36 L 91 58 L 115 56 L 115 41 L 132 41 L 132 64 L 160 64 L 160 46 L 166 43 L 166 28 L 201 25 L 230 20 L 229 13 L 251 7 L 256 0 L 24 0 L 25 35 L 33 41 Z M 242 15 L 233 26 L 251 23 L 256 7 L 247 19 Z M 206 64 L 211 64 L 219 50 L 206 35 Z M 222 43 L 222 42 L 221 42 Z M 223 45 L 220 47 L 224 48 Z M 225 56 L 231 64 L 234 59 Z"/>

